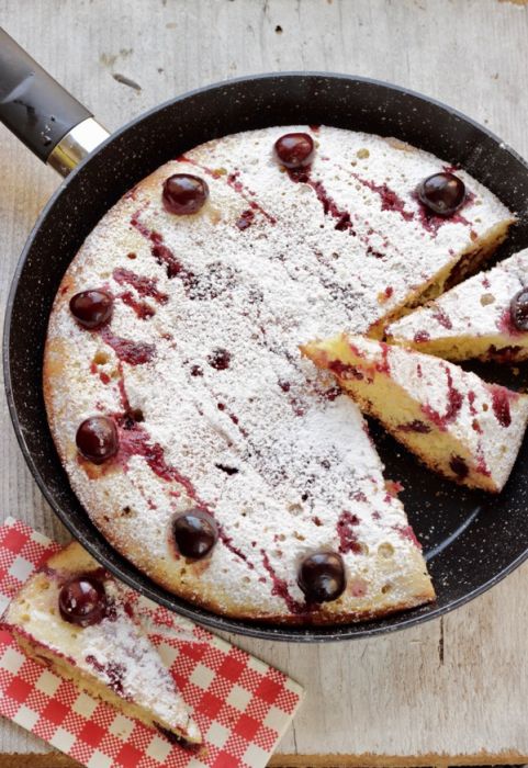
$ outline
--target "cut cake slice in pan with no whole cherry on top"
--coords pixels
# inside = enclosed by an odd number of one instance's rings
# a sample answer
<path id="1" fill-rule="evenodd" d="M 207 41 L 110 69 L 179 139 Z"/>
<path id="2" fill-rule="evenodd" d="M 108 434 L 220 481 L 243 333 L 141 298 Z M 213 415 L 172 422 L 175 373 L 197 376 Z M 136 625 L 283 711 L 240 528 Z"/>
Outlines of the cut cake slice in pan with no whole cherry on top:
<path id="1" fill-rule="evenodd" d="M 413 350 L 341 334 L 302 351 L 431 470 L 498 493 L 517 456 L 528 396 Z"/>

